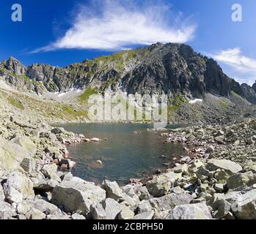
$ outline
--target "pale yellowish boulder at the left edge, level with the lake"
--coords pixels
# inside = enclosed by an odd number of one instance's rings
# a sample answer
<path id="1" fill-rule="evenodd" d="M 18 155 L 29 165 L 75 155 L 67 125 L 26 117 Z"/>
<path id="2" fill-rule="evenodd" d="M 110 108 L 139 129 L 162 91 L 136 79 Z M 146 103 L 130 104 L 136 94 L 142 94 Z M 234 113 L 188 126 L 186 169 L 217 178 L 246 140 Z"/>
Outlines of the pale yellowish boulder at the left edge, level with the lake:
<path id="1" fill-rule="evenodd" d="M 13 171 L 18 169 L 25 157 L 30 154 L 25 148 L 0 137 L 0 168 Z"/>

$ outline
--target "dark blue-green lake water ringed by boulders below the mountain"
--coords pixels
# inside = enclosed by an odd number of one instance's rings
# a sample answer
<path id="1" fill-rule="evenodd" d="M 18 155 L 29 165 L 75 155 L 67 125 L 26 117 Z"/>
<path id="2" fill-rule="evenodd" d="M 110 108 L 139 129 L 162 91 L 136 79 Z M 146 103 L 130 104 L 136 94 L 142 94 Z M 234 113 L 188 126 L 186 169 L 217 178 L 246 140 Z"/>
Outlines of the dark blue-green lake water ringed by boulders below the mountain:
<path id="1" fill-rule="evenodd" d="M 142 178 L 156 169 L 167 168 L 164 163 L 183 154 L 182 145 L 165 143 L 166 137 L 161 137 L 161 132 L 148 131 L 153 128 L 150 124 L 64 124 L 62 127 L 87 138 L 102 139 L 100 143 L 79 143 L 68 148 L 77 162 L 73 175 L 87 181 L 101 183 L 108 179 L 125 184 L 130 178 Z M 98 165 L 97 160 L 103 165 Z"/>

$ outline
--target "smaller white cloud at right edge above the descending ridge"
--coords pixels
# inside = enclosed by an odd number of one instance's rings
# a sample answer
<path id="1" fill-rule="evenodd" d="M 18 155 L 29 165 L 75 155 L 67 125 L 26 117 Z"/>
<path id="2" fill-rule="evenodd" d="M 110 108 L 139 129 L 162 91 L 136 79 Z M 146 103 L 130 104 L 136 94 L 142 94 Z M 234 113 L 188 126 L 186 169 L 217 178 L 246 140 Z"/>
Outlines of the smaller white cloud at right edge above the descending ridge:
<path id="1" fill-rule="evenodd" d="M 256 59 L 244 56 L 240 48 L 222 50 L 212 57 L 229 66 L 230 72 L 239 83 L 252 84 L 255 82 Z"/>

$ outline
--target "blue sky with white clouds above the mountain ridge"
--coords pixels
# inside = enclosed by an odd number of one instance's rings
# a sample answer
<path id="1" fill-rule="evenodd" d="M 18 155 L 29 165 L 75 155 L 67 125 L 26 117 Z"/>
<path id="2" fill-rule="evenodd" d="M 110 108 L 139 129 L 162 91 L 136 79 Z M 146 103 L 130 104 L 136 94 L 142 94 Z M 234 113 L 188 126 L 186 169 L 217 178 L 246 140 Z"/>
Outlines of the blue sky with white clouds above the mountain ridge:
<path id="1" fill-rule="evenodd" d="M 12 4 L 22 22 L 12 22 Z M 242 22 L 231 19 L 242 6 Z M 255 0 L 1 0 L 0 60 L 67 64 L 153 42 L 185 42 L 239 82 L 256 80 Z"/>

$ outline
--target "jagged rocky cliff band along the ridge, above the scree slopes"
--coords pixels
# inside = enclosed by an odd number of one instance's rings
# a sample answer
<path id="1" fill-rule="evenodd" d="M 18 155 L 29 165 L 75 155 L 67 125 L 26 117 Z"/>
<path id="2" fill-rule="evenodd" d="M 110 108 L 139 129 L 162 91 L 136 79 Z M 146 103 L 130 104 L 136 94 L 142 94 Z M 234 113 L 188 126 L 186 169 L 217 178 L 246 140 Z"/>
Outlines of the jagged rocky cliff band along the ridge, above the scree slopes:
<path id="1" fill-rule="evenodd" d="M 256 103 L 254 88 L 227 77 L 213 59 L 188 45 L 157 43 L 111 56 L 85 60 L 65 68 L 46 64 L 24 67 L 10 58 L 0 64 L 0 75 L 18 88 L 37 94 L 66 92 L 95 86 L 100 91 L 121 89 L 128 94 L 168 94 L 202 98 L 206 93 L 228 97 L 232 91 Z"/>

